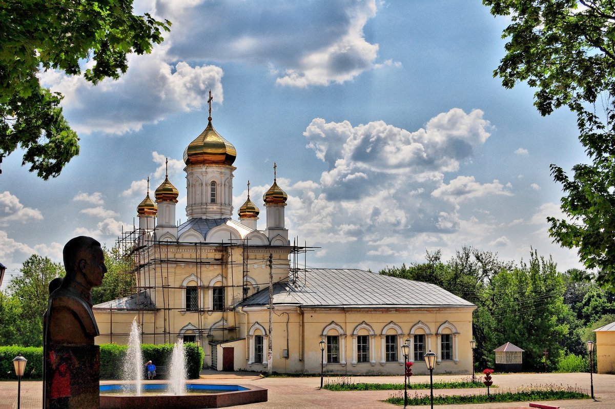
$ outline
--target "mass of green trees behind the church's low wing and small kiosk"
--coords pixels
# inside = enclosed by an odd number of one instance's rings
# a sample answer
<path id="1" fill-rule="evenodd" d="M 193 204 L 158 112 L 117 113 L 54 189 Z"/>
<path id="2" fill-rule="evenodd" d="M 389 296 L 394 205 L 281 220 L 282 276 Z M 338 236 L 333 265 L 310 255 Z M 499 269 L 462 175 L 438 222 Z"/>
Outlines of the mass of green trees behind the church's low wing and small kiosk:
<path id="1" fill-rule="evenodd" d="M 593 299 L 591 291 L 603 292 L 595 284 L 576 281 L 582 274 L 558 272 L 552 259 L 535 250 L 527 262 L 515 265 L 496 253 L 464 246 L 447 262 L 435 251 L 427 253 L 425 263 L 380 273 L 434 283 L 476 304 L 472 331 L 477 368 L 493 367 L 493 350 L 512 342 L 525 349 L 526 370 L 544 370 L 544 349 L 549 351 L 548 368 L 555 370 L 566 354 L 581 354 L 584 348 L 581 338 L 586 323 L 573 310 L 583 310 L 580 303 Z M 600 307 L 591 304 L 587 314 L 599 314 L 592 309 Z"/>

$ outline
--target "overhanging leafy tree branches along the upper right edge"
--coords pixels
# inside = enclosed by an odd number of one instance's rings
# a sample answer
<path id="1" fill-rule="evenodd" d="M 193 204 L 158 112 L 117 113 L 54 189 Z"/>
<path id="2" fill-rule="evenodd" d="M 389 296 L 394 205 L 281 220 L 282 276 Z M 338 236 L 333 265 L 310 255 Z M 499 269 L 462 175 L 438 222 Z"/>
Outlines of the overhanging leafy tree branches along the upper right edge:
<path id="1" fill-rule="evenodd" d="M 563 185 L 561 209 L 569 220 L 548 217 L 549 233 L 577 248 L 597 282 L 615 291 L 615 4 L 606 0 L 483 0 L 491 14 L 510 16 L 502 38 L 506 55 L 494 76 L 512 88 L 536 87 L 541 115 L 568 107 L 576 113 L 579 140 L 592 161 L 577 164 Z M 589 277 L 588 277 L 589 278 Z"/>

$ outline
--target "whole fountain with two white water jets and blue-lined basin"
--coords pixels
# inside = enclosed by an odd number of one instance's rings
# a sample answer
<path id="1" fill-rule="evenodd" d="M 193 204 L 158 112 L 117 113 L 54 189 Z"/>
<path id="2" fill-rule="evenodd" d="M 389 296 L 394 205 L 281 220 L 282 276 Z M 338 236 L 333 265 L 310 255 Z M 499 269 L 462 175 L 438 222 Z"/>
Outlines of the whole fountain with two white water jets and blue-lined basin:
<path id="1" fill-rule="evenodd" d="M 267 401 L 267 389 L 262 387 L 186 383 L 187 375 L 184 344 L 179 340 L 173 346 L 169 363 L 169 383 L 143 381 L 141 331 L 135 317 L 122 366 L 123 383 L 100 385 L 100 408 L 219 408 Z"/>

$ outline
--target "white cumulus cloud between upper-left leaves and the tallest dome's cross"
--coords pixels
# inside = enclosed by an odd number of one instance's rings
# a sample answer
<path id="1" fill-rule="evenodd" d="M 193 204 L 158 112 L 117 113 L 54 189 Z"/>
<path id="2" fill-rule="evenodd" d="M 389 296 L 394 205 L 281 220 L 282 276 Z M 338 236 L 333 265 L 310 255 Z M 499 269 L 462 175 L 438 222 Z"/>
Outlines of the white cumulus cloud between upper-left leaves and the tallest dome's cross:
<path id="1" fill-rule="evenodd" d="M 127 73 L 117 80 L 104 79 L 97 86 L 58 70 L 39 76 L 44 86 L 65 95 L 62 107 L 79 134 L 138 131 L 143 124 L 156 123 L 174 113 L 199 110 L 207 105 L 210 89 L 214 102 L 222 103 L 222 69 L 174 62 L 167 55 L 168 49 L 168 45 L 161 45 L 148 55 L 129 55 Z"/>

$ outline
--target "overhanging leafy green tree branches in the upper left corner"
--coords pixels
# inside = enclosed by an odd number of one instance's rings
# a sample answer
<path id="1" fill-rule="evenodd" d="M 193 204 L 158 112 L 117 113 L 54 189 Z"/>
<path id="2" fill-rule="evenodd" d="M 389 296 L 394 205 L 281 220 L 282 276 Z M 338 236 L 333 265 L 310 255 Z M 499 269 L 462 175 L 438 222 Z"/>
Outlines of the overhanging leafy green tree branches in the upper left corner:
<path id="1" fill-rule="evenodd" d="M 96 84 L 127 70 L 129 53 L 162 42 L 159 22 L 133 15 L 132 0 L 9 0 L 0 6 L 0 163 L 22 148 L 22 164 L 56 177 L 79 154 L 79 138 L 62 115 L 62 95 L 41 87 L 39 68 L 81 75 Z"/>

